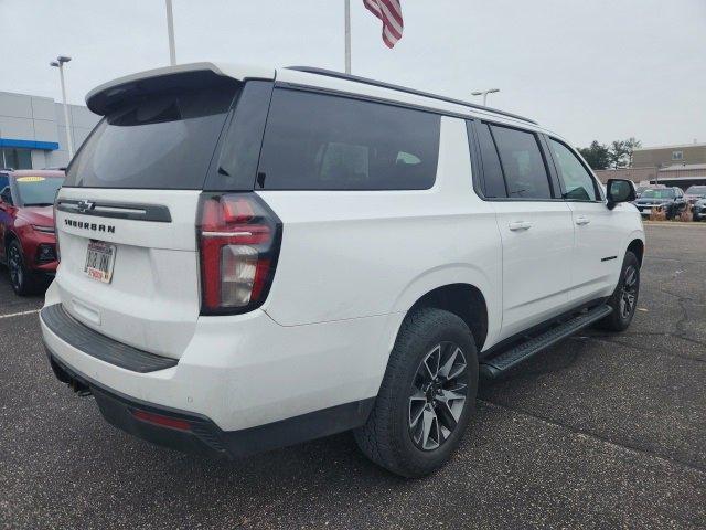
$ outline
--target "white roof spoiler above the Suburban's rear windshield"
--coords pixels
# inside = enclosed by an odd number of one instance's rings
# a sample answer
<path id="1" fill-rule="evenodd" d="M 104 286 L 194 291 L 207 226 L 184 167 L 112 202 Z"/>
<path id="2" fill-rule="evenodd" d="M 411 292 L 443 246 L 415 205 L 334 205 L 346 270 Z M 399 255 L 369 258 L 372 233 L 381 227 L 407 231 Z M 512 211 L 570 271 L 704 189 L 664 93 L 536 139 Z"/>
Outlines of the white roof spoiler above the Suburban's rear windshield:
<path id="1" fill-rule="evenodd" d="M 246 78 L 274 80 L 275 70 L 216 63 L 189 63 L 148 70 L 104 83 L 86 95 L 88 108 L 105 116 L 121 102 L 170 88 L 196 88 Z"/>

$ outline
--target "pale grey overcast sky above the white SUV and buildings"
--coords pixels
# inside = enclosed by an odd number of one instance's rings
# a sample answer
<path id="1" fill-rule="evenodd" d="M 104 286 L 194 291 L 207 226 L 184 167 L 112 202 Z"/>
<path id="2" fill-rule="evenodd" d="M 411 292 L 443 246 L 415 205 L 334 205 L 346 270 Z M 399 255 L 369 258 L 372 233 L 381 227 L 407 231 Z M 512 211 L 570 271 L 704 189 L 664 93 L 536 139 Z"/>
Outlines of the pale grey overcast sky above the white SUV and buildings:
<path id="1" fill-rule="evenodd" d="M 173 0 L 178 62 L 343 70 L 343 0 Z M 394 50 L 351 0 L 353 73 L 537 119 L 577 146 L 706 141 L 706 0 L 402 0 Z M 0 0 L 0 91 L 71 103 L 169 62 L 163 0 Z M 478 99 L 477 99 L 478 100 Z"/>

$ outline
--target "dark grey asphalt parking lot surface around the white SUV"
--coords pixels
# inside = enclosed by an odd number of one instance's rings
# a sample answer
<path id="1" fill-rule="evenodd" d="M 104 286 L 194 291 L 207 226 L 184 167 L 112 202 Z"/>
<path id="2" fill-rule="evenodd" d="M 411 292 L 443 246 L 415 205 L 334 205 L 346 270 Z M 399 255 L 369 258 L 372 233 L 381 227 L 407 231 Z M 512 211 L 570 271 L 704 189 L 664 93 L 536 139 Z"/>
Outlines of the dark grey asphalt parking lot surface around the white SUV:
<path id="1" fill-rule="evenodd" d="M 639 312 L 481 386 L 443 469 L 398 479 L 347 434 L 233 463 L 132 438 L 46 363 L 0 269 L 2 528 L 705 528 L 706 223 L 648 226 Z"/>

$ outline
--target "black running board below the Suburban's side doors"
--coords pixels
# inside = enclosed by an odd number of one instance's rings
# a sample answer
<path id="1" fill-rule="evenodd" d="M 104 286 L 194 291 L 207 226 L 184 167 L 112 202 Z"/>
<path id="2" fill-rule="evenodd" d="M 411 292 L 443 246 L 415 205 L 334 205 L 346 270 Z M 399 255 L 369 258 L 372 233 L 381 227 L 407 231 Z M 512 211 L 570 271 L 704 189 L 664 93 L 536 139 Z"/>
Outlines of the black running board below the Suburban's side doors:
<path id="1" fill-rule="evenodd" d="M 480 373 L 490 379 L 498 378 L 535 353 L 607 317 L 612 310 L 613 308 L 607 305 L 595 307 L 510 350 L 502 351 L 489 359 L 483 359 L 479 367 Z"/>

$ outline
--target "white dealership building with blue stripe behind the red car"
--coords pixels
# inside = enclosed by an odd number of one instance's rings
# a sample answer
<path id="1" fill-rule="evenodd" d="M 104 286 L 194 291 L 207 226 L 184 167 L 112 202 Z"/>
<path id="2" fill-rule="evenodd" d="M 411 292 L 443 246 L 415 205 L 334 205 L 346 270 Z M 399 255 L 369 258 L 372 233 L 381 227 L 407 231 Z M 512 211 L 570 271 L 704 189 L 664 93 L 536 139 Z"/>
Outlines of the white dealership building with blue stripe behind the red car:
<path id="1" fill-rule="evenodd" d="M 74 152 L 100 119 L 68 105 Z M 0 92 L 0 168 L 42 169 L 68 163 L 64 109 L 51 97 Z"/>

